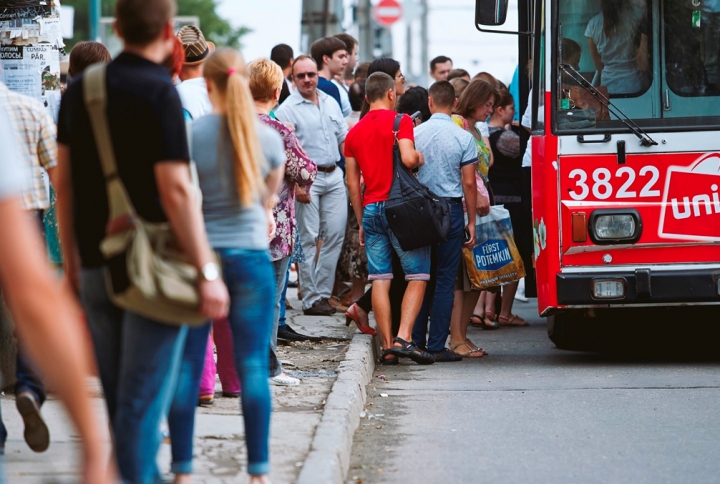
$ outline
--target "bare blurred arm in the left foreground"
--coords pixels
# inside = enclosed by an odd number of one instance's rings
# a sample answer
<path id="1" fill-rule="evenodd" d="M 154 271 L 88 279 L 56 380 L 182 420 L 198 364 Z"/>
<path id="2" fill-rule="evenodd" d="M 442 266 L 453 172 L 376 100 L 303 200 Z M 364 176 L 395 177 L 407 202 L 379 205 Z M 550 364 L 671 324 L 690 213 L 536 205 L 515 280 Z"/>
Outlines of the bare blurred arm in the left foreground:
<path id="1" fill-rule="evenodd" d="M 32 361 L 65 404 L 83 446 L 83 482 L 109 483 L 105 445 L 85 387 L 88 347 L 82 313 L 53 279 L 39 233 L 17 199 L 0 200 L 0 285 Z"/>

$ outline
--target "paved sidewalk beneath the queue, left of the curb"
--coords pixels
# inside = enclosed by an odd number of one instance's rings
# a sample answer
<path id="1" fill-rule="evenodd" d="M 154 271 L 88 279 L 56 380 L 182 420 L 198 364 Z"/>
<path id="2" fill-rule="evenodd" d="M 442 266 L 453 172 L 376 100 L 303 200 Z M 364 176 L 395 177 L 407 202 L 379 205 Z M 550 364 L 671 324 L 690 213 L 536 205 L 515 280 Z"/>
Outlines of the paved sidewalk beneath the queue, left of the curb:
<path id="1" fill-rule="evenodd" d="M 288 311 L 288 322 L 300 333 L 323 336 L 321 343 L 299 343 L 279 348 L 279 357 L 292 362 L 288 374 L 302 379 L 299 387 L 273 386 L 270 477 L 274 484 L 292 483 L 308 456 L 315 429 L 323 416 L 337 367 L 348 349 L 354 326 L 346 328 L 344 315 L 303 316 L 297 291 L 290 289 L 295 310 Z M 104 402 L 98 380 L 89 382 L 98 412 L 104 414 Z M 216 387 L 215 405 L 198 408 L 195 420 L 194 483 L 244 483 L 246 455 L 243 422 L 238 399 L 222 398 Z M 43 406 L 50 427 L 50 448 L 33 453 L 22 437 L 22 421 L 13 395 L 0 398 L 8 441 L 5 448 L 5 473 L 9 484 L 66 484 L 77 482 L 78 436 L 60 403 L 52 396 Z M 109 446 L 108 446 L 109 448 Z M 170 446 L 163 444 L 158 457 L 163 472 L 170 466 Z M 170 478 L 171 475 L 166 476 Z"/>

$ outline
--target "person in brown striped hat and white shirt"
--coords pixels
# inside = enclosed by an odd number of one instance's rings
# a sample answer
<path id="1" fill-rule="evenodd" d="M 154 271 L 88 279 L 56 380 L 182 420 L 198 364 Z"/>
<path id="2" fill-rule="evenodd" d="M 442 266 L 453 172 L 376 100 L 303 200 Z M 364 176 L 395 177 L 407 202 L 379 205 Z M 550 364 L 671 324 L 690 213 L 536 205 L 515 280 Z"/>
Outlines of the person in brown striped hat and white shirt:
<path id="1" fill-rule="evenodd" d="M 185 49 L 185 62 L 180 71 L 178 94 L 183 105 L 186 120 L 195 120 L 212 112 L 203 78 L 203 62 L 215 50 L 215 44 L 205 40 L 205 36 L 194 25 L 186 25 L 177 33 Z"/>

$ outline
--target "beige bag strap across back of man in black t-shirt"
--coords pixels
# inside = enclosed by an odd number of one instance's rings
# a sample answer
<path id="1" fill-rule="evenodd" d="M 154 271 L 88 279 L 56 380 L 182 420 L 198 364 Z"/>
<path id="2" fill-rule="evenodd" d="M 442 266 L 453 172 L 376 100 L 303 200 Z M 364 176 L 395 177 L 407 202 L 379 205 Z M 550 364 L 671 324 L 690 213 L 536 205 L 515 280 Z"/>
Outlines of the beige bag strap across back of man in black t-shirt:
<path id="1" fill-rule="evenodd" d="M 107 120 L 107 90 L 105 74 L 107 64 L 88 67 L 83 75 L 83 99 L 92 121 L 93 135 L 97 145 L 100 165 L 105 175 L 110 220 L 123 215 L 135 216 L 135 208 L 117 173 L 110 128 Z"/>

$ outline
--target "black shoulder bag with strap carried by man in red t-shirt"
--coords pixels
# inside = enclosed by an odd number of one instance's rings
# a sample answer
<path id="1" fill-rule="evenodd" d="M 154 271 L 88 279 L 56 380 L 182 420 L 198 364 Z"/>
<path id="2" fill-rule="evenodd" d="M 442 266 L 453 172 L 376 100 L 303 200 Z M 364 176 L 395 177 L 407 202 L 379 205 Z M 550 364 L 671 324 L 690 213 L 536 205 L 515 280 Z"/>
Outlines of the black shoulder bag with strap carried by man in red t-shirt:
<path id="1" fill-rule="evenodd" d="M 450 205 L 420 183 L 402 163 L 397 134 L 400 120 L 395 118 L 393 133 L 393 184 L 385 202 L 388 225 L 402 250 L 413 250 L 445 242 L 450 232 Z"/>

